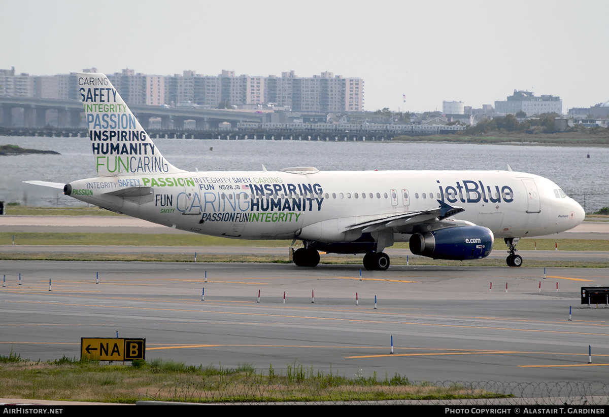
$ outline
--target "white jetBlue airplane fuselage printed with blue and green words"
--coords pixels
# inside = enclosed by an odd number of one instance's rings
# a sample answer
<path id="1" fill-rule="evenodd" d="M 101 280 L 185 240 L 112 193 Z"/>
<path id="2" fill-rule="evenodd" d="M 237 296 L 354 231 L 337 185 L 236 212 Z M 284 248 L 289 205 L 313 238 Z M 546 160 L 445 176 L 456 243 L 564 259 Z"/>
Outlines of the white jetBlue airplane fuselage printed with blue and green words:
<path id="1" fill-rule="evenodd" d="M 345 232 L 353 224 L 434 209 L 437 200 L 463 207 L 454 218 L 488 227 L 496 238 L 563 232 L 584 217 L 554 182 L 512 171 L 191 172 L 70 185 L 74 198 L 100 207 L 242 239 L 353 241 L 361 235 Z M 395 241 L 409 232 L 407 224 L 396 229 Z"/>

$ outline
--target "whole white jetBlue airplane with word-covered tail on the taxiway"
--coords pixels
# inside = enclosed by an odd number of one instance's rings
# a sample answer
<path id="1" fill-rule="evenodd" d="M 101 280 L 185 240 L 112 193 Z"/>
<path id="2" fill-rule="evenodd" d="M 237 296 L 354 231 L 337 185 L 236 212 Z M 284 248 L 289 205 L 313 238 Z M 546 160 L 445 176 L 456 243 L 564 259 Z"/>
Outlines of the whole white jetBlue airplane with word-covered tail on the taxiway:
<path id="1" fill-rule="evenodd" d="M 365 253 L 389 267 L 385 247 L 409 241 L 415 255 L 487 257 L 508 245 L 577 226 L 582 207 L 549 179 L 509 171 L 186 172 L 170 164 L 104 74 L 79 74 L 97 176 L 69 184 L 27 181 L 113 212 L 168 227 L 239 239 L 292 239 L 297 266 L 319 252 Z"/>

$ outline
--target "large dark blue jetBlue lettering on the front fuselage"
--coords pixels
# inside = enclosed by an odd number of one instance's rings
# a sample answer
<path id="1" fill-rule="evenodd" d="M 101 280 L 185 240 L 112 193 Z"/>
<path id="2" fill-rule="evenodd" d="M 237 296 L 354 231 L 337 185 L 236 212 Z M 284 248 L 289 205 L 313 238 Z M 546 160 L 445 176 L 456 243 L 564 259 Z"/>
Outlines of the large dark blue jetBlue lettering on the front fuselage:
<path id="1" fill-rule="evenodd" d="M 464 179 L 457 181 L 455 185 L 442 187 L 440 181 L 440 199 L 443 202 L 504 202 L 514 201 L 514 191 L 509 185 L 485 185 L 482 181 Z"/>

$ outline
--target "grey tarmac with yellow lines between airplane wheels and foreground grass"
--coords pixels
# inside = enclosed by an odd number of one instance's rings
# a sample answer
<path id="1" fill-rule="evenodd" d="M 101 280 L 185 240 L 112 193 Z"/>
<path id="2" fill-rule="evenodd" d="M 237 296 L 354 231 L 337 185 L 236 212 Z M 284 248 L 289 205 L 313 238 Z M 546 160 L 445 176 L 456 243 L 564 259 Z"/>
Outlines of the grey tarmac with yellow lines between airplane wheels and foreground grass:
<path id="1" fill-rule="evenodd" d="M 544 280 L 541 268 L 394 266 L 360 281 L 347 265 L 0 261 L 4 274 L 3 355 L 78 357 L 80 337 L 118 331 L 145 337 L 147 359 L 229 368 L 517 382 L 604 382 L 609 369 L 609 309 L 579 298 L 609 286 L 609 269 Z"/>

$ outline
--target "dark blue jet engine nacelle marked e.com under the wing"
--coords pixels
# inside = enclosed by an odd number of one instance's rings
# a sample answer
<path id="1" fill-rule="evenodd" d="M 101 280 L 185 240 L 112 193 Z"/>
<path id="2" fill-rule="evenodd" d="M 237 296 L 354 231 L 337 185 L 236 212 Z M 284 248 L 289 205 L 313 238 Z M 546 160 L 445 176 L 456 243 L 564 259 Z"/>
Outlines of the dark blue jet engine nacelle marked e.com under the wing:
<path id="1" fill-rule="evenodd" d="M 493 249 L 493 232 L 482 226 L 459 226 L 410 237 L 410 252 L 434 259 L 485 258 Z"/>

